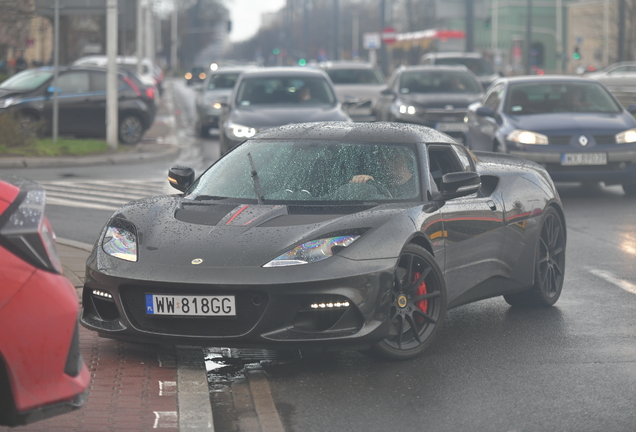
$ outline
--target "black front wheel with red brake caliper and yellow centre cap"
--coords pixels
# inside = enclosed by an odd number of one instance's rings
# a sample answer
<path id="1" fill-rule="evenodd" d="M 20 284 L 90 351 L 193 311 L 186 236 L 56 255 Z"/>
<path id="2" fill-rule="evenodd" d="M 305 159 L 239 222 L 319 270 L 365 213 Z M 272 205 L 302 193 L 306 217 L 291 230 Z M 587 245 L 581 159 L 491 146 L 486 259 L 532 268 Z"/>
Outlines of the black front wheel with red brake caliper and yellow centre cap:
<path id="1" fill-rule="evenodd" d="M 370 354 L 407 360 L 434 340 L 446 317 L 446 284 L 435 258 L 409 244 L 400 255 L 391 290 L 389 334 Z"/>

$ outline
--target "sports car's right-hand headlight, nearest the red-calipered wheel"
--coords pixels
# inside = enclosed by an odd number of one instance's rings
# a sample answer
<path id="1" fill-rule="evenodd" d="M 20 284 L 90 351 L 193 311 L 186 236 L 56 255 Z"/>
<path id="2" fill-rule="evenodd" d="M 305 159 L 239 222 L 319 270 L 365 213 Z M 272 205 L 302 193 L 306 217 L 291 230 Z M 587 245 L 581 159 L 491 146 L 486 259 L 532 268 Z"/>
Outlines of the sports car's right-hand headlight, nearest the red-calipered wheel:
<path id="1" fill-rule="evenodd" d="M 322 261 L 333 256 L 338 250 L 346 248 L 359 237 L 348 235 L 308 241 L 271 260 L 263 267 L 284 267 Z"/>

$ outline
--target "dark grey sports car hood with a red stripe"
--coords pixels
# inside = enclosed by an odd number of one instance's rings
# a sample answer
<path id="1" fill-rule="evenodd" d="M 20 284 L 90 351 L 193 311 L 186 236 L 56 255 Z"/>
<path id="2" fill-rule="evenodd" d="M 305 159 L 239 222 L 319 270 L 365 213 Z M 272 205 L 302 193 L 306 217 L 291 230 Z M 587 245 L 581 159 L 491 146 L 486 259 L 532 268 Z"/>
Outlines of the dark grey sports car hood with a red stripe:
<path id="1" fill-rule="evenodd" d="M 354 243 L 357 250 L 352 245 L 338 255 L 397 257 L 413 232 L 408 210 L 416 207 L 417 203 L 354 207 L 210 204 L 167 196 L 134 201 L 114 217 L 136 227 L 139 263 L 191 267 L 192 260 L 200 258 L 203 262 L 197 268 L 232 268 L 261 267 L 304 242 L 361 231 L 365 234 Z M 384 234 L 372 235 L 377 232 Z M 103 233 L 100 243 L 102 237 Z M 386 247 L 392 242 L 394 250 Z"/>

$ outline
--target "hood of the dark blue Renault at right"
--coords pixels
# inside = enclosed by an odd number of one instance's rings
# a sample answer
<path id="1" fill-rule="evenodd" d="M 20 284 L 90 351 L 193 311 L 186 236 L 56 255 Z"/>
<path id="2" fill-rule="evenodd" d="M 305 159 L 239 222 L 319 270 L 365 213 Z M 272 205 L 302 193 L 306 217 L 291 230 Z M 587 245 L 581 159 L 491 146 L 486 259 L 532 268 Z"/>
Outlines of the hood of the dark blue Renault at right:
<path id="1" fill-rule="evenodd" d="M 636 127 L 636 120 L 629 113 L 552 113 L 527 116 L 510 116 L 516 129 L 530 130 L 548 135 L 567 135 L 587 131 L 590 133 L 618 133 Z"/>

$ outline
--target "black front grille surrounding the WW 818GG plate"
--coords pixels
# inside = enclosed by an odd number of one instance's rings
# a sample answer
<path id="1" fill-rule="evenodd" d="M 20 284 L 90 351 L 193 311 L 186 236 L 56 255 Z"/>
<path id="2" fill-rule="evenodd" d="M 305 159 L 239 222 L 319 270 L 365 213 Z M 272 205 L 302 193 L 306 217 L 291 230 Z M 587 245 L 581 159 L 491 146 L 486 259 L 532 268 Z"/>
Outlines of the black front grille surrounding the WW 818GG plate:
<path id="1" fill-rule="evenodd" d="M 146 294 L 233 295 L 236 316 L 182 317 L 146 314 Z M 130 323 L 138 330 L 174 336 L 228 337 L 248 333 L 258 323 L 267 307 L 268 297 L 259 291 L 232 291 L 218 287 L 183 289 L 123 286 L 120 296 Z M 259 301 L 253 301 L 258 298 Z"/>

